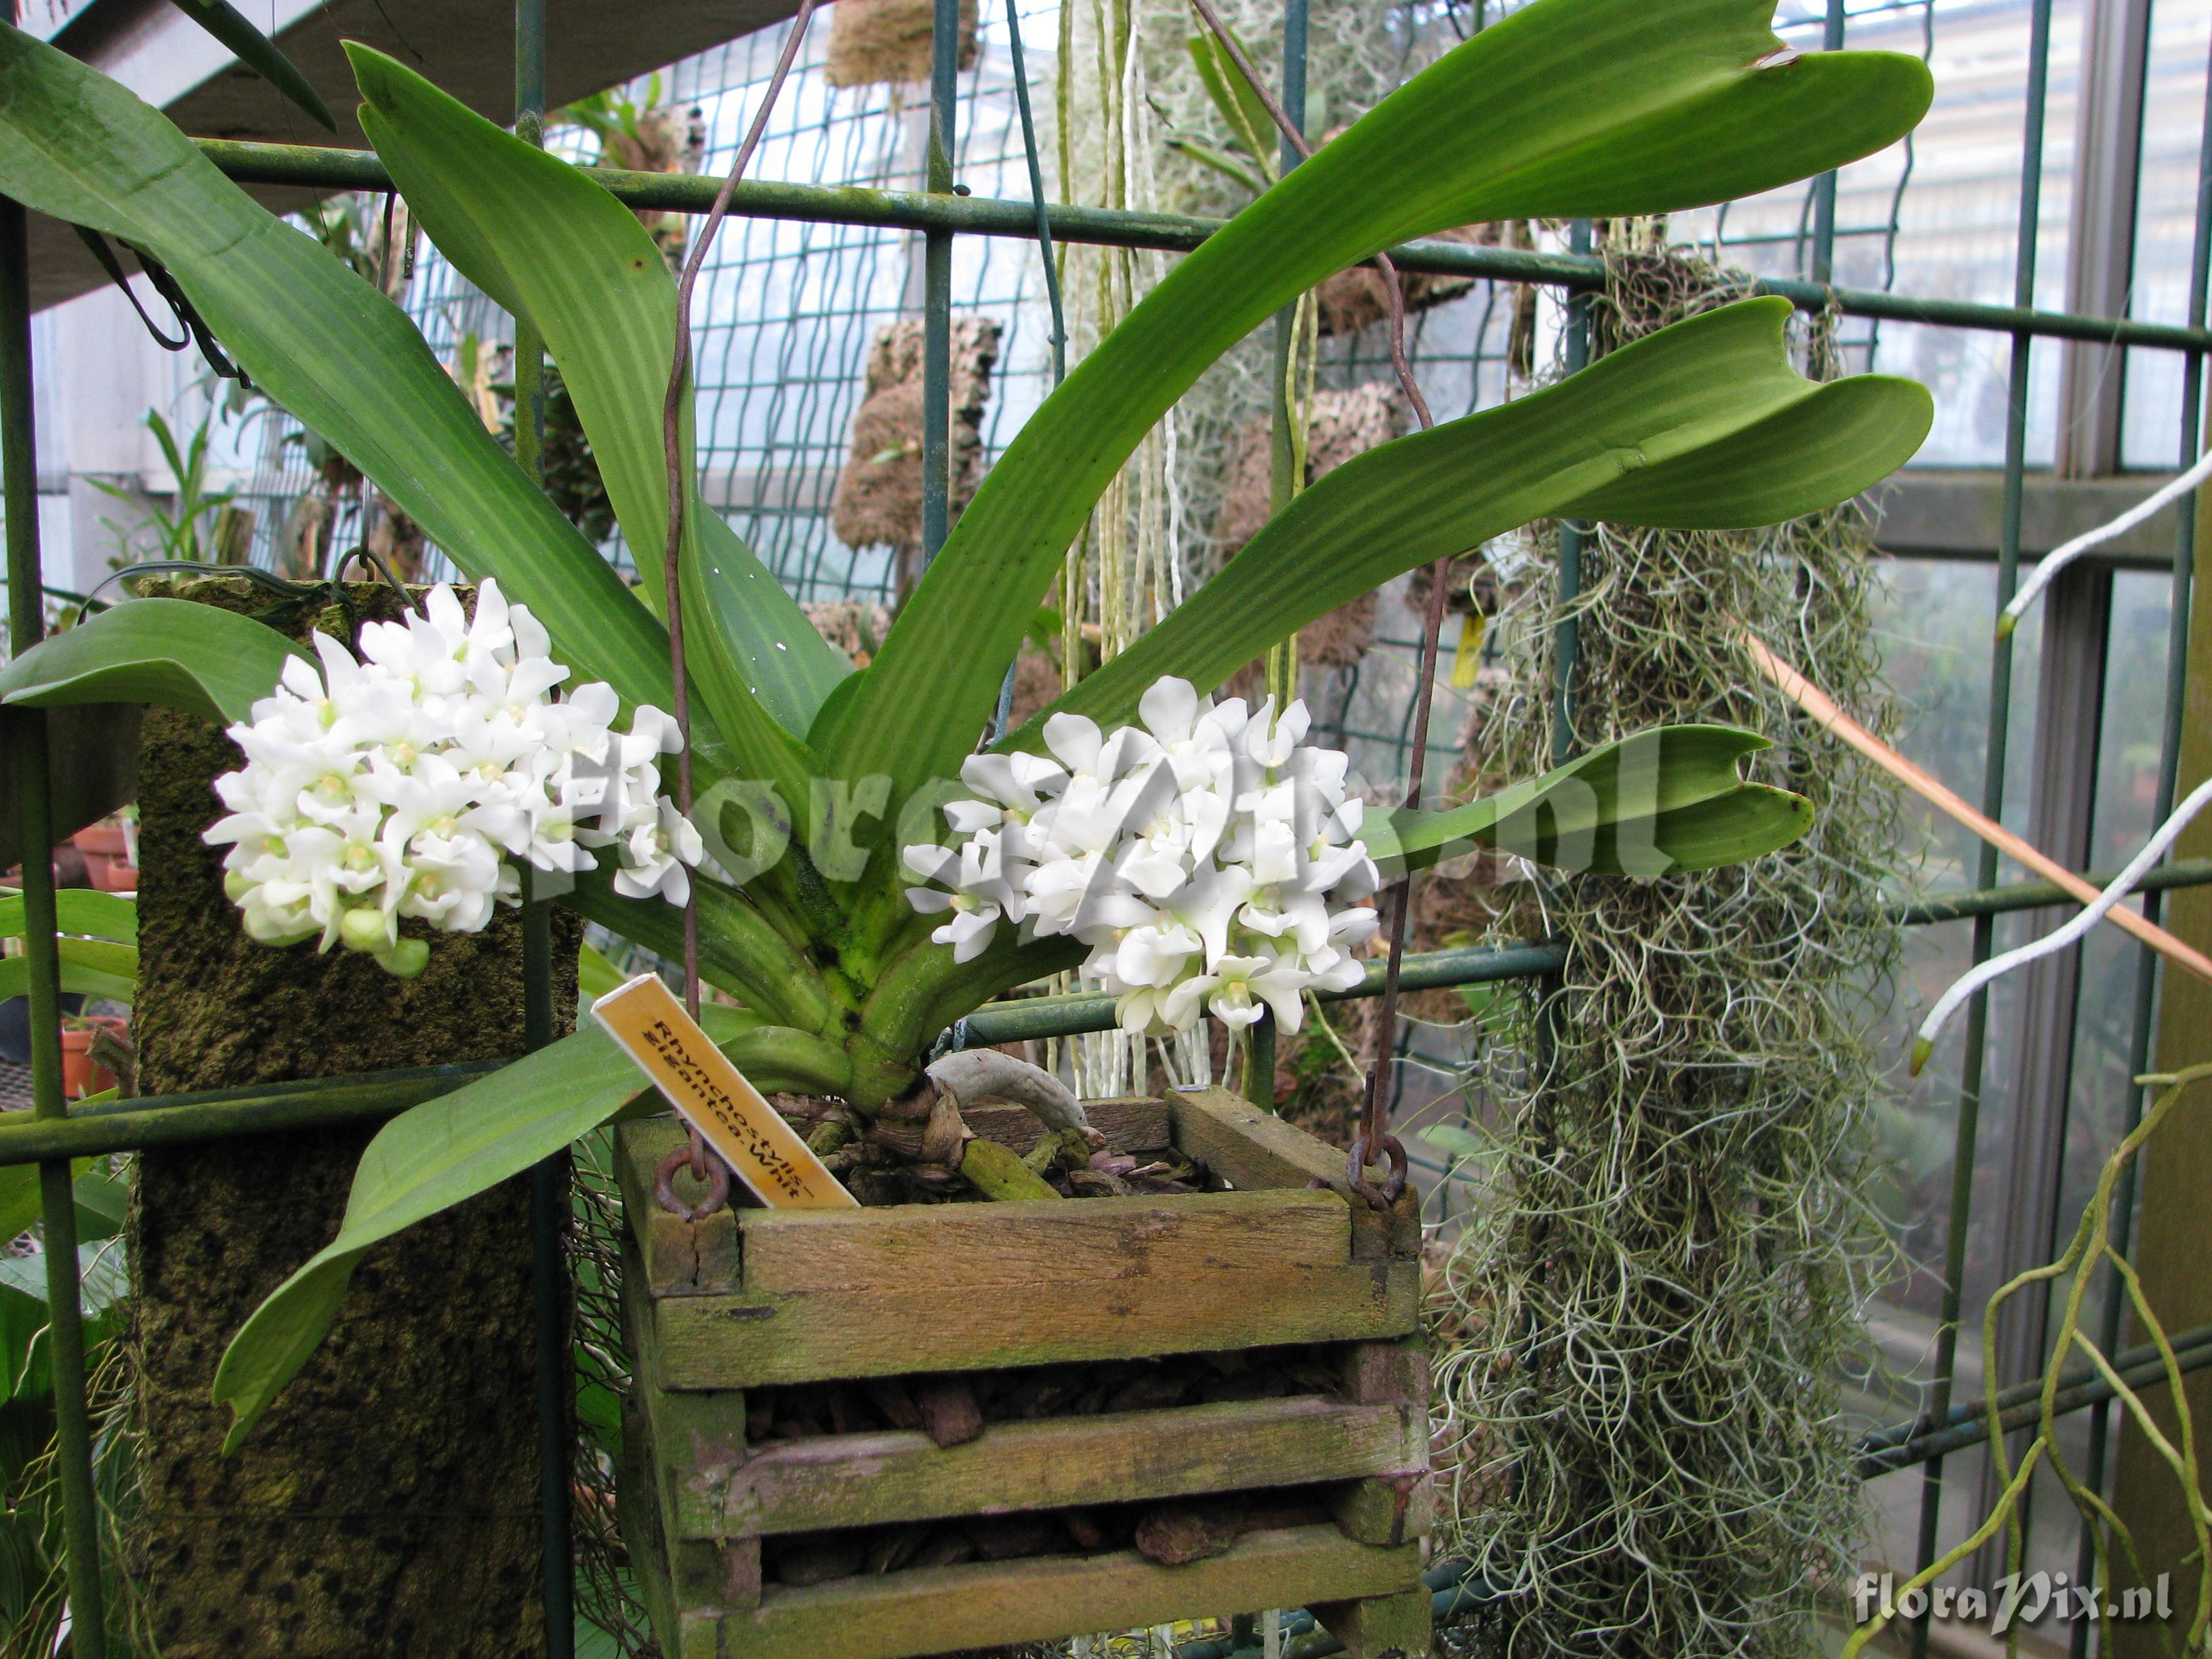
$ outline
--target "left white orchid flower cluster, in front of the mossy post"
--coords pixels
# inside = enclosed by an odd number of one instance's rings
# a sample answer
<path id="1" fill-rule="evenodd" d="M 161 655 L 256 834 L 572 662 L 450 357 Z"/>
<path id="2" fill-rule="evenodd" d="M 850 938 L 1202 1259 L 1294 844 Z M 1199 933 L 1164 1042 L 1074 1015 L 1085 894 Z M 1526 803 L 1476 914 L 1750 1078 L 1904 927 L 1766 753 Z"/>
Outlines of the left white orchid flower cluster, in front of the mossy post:
<path id="1" fill-rule="evenodd" d="M 323 672 L 301 657 L 272 697 L 230 728 L 246 765 L 215 790 L 230 816 L 204 836 L 228 845 L 223 891 L 263 945 L 321 938 L 367 951 L 400 978 L 429 947 L 403 918 L 476 933 L 522 900 L 518 860 L 584 872 L 615 849 L 615 891 L 690 896 L 699 832 L 659 790 L 675 721 L 639 703 L 617 734 L 615 692 L 577 686 L 546 655 L 546 630 L 498 582 L 473 619 L 453 588 L 422 613 L 361 628 L 361 661 L 316 633 Z"/>

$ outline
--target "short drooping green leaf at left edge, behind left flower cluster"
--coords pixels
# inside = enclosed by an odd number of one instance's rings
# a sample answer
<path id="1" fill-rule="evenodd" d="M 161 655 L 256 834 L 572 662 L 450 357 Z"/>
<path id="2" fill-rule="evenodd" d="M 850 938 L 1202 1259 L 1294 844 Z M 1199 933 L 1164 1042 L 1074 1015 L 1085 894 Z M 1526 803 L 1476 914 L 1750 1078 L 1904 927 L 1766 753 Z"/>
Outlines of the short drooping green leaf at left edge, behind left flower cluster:
<path id="1" fill-rule="evenodd" d="M 161 703 L 230 726 L 276 690 L 303 648 L 252 617 L 188 599 L 128 599 L 0 670 L 0 703 Z"/>

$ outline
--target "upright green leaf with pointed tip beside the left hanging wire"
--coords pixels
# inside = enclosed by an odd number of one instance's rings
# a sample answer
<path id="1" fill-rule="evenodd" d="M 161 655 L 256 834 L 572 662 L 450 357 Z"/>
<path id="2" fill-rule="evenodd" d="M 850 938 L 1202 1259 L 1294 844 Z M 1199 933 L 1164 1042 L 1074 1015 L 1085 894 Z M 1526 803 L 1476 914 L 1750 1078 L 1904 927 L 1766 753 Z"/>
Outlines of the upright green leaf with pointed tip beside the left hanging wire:
<path id="1" fill-rule="evenodd" d="M 502 133 L 411 69 L 347 42 L 367 104 L 361 124 L 418 223 L 469 281 L 529 316 L 560 363 L 646 591 L 661 604 L 668 540 L 661 403 L 675 354 L 677 290 L 637 215 L 588 173 Z M 690 407 L 681 451 L 684 553 L 695 675 L 739 737 L 754 697 L 801 734 L 852 672 L 737 533 L 697 500 Z"/>

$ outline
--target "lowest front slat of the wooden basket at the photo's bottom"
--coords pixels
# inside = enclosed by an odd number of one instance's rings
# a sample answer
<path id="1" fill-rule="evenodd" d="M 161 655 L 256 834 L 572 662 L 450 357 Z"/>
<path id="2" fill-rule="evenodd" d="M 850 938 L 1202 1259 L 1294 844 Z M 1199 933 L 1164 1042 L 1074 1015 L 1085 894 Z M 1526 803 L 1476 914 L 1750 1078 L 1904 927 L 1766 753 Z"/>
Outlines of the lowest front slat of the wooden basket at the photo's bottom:
<path id="1" fill-rule="evenodd" d="M 1418 1575 L 1418 1546 L 1371 1548 L 1334 1526 L 1252 1533 L 1190 1566 L 1155 1566 L 1133 1551 L 942 1566 L 772 1588 L 757 1613 L 723 1617 L 719 1650 L 692 1646 L 686 1630 L 681 1659 L 911 1659 L 1201 1613 L 1394 1595 L 1416 1588 Z"/>

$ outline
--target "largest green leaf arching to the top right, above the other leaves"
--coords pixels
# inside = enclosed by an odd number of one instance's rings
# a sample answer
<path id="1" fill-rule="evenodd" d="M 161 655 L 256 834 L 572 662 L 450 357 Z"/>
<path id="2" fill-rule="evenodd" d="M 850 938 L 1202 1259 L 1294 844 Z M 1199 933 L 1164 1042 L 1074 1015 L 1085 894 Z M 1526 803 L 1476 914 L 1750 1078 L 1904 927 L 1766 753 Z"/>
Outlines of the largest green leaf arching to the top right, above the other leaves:
<path id="1" fill-rule="evenodd" d="M 834 776 L 951 776 L 1037 595 L 1144 434 L 1292 296 L 1486 219 L 1666 212 L 1891 144 L 1929 104 L 1891 53 L 1794 58 L 1772 0 L 1540 0 L 1383 100 L 1177 265 L 1022 427 L 836 726 Z M 958 646 L 953 646 L 958 641 Z"/>

